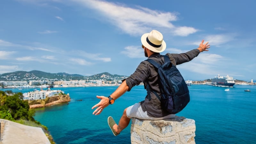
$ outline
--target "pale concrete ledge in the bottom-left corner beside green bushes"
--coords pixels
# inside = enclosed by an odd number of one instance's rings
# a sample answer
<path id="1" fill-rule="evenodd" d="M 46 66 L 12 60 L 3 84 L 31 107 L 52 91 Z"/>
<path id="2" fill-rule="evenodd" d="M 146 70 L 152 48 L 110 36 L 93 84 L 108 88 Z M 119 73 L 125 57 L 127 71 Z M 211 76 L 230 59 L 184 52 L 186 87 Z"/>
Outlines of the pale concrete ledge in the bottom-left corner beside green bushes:
<path id="1" fill-rule="evenodd" d="M 0 119 L 1 133 L 0 144 L 51 144 L 42 128 L 15 123 Z"/>

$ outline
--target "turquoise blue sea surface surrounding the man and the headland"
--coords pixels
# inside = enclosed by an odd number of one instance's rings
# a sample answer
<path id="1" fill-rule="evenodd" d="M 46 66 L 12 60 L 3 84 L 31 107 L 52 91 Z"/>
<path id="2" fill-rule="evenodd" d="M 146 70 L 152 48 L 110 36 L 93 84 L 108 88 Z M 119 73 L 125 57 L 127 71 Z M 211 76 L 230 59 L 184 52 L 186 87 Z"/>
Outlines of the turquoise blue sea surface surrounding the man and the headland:
<path id="1" fill-rule="evenodd" d="M 130 125 L 114 136 L 107 118 L 116 123 L 123 110 L 146 96 L 143 85 L 103 109 L 100 115 L 92 115 L 91 108 L 99 102 L 96 95 L 109 96 L 117 86 L 52 88 L 69 93 L 71 101 L 47 108 L 36 109 L 35 119 L 48 127 L 57 144 L 129 144 Z M 229 89 L 229 91 L 225 91 Z M 244 90 L 250 89 L 251 92 Z M 29 92 L 33 89 L 1 89 L 13 92 Z M 45 90 L 45 89 L 44 89 Z M 256 138 L 256 86 L 235 85 L 223 88 L 209 85 L 189 86 L 190 102 L 177 116 L 196 121 L 196 144 L 253 144 Z M 82 100 L 82 101 L 77 101 Z"/>

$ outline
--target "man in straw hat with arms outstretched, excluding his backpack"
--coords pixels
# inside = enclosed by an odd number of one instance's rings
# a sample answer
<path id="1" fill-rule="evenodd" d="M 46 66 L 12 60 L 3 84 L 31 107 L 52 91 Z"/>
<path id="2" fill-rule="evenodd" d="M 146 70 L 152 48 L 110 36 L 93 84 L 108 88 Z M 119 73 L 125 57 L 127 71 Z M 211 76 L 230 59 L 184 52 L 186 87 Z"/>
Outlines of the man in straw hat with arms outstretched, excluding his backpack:
<path id="1" fill-rule="evenodd" d="M 148 59 L 153 59 L 161 65 L 164 63 L 164 58 L 160 55 L 160 52 L 165 50 L 166 44 L 163 40 L 163 35 L 159 31 L 152 30 L 150 33 L 142 35 L 141 43 L 145 56 L 148 57 Z M 197 49 L 186 53 L 167 53 L 166 55 L 169 56 L 172 64 L 176 66 L 194 59 L 200 52 L 208 51 L 208 48 L 210 48 L 210 44 L 208 44 L 208 42 L 204 44 L 204 40 L 202 40 Z M 142 61 L 135 72 L 127 79 L 123 80 L 123 83 L 109 97 L 96 96 L 100 99 L 100 102 L 92 107 L 92 109 L 96 108 L 92 114 L 99 115 L 109 104 L 113 104 L 117 98 L 126 91 L 130 91 L 133 86 L 139 85 L 141 82 L 144 82 L 145 88 L 146 85 L 149 84 L 152 91 L 155 91 L 160 96 L 157 81 L 157 71 L 154 66 L 148 61 Z M 148 97 L 146 97 L 144 101 L 125 108 L 118 125 L 111 116 L 108 117 L 108 125 L 115 136 L 128 126 L 132 117 L 144 120 L 162 120 L 170 119 L 175 116 L 161 108 L 160 101 L 153 92 L 150 92 L 150 96 L 151 100 L 148 100 Z"/>

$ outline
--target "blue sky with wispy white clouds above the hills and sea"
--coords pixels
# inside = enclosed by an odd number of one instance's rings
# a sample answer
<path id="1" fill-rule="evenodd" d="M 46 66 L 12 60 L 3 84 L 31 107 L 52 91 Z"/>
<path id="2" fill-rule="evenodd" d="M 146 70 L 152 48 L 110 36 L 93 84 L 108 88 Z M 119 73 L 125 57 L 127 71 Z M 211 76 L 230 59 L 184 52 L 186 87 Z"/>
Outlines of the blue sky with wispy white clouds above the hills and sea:
<path id="1" fill-rule="evenodd" d="M 146 59 L 140 37 L 164 36 L 161 54 L 211 44 L 178 65 L 184 79 L 256 80 L 256 1 L 1 0 L 0 74 L 40 70 L 130 76 Z"/>

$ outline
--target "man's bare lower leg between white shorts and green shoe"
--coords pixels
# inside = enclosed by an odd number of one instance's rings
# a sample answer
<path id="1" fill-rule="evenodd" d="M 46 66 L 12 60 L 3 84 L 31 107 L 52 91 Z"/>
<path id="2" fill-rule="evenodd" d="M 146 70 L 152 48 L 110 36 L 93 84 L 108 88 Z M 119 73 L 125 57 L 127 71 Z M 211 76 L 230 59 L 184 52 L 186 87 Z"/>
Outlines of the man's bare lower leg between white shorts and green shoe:
<path id="1" fill-rule="evenodd" d="M 131 119 L 130 119 L 129 117 L 127 117 L 127 115 L 126 115 L 126 109 L 127 109 L 127 108 L 124 109 L 123 116 L 120 118 L 118 125 L 115 124 L 115 125 L 113 126 L 113 129 L 115 130 L 116 133 L 120 133 L 120 132 L 121 132 L 124 128 L 126 128 L 126 127 L 129 125 L 129 123 L 130 123 L 130 120 L 131 120 Z"/>

